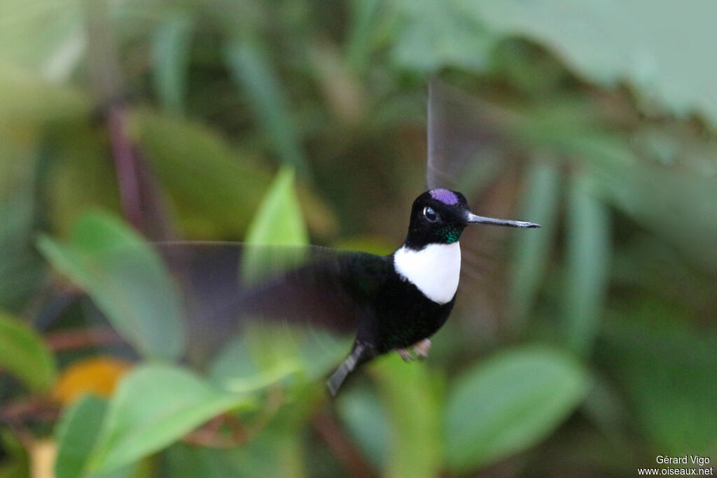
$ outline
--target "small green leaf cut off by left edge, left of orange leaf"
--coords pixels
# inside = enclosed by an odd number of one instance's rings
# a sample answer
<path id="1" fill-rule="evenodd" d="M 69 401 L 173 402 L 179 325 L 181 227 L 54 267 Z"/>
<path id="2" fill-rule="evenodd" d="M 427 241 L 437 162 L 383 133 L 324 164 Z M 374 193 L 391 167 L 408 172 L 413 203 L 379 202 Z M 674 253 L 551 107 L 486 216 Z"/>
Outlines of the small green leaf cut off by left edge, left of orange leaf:
<path id="1" fill-rule="evenodd" d="M 47 390 L 57 373 L 54 356 L 42 338 L 21 320 L 3 312 L 0 312 L 0 368 L 35 392 Z"/>

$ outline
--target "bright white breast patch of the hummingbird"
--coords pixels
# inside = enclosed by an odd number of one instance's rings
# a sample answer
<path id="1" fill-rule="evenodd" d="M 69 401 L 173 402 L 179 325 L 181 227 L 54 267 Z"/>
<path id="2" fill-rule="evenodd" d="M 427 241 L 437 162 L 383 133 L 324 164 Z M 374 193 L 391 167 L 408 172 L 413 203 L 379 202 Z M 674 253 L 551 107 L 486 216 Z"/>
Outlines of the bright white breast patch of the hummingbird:
<path id="1" fill-rule="evenodd" d="M 394 269 L 430 300 L 446 304 L 458 288 L 460 245 L 429 244 L 420 250 L 404 246 L 394 254 Z"/>

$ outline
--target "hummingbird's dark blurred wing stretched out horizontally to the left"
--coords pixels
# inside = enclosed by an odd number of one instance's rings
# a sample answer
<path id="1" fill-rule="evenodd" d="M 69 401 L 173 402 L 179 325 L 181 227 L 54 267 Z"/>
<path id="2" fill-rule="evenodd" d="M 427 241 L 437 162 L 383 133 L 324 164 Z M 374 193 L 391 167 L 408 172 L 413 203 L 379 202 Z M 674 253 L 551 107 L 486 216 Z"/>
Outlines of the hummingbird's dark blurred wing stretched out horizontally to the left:
<path id="1" fill-rule="evenodd" d="M 247 322 L 283 321 L 353 332 L 387 257 L 325 247 L 156 244 L 181 288 L 191 342 L 212 349 Z"/>

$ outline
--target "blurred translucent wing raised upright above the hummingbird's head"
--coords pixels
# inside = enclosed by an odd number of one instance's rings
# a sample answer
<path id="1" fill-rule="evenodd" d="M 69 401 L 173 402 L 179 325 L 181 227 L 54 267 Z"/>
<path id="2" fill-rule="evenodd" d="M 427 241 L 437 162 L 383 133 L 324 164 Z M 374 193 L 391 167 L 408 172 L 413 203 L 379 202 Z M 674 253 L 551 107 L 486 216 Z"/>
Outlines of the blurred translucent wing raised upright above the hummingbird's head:
<path id="1" fill-rule="evenodd" d="M 489 105 L 436 78 L 428 85 L 429 189 L 465 190 L 460 183 L 469 163 L 488 154 L 498 138 Z M 467 191 L 464 191 L 467 192 Z"/>

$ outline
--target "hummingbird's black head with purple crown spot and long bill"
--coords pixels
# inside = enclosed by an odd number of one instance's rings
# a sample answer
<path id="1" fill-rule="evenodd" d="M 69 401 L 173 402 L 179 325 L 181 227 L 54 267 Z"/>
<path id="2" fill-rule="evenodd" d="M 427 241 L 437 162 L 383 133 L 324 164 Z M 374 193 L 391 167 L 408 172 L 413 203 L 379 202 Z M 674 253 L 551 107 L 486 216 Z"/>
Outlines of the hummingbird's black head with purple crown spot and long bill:
<path id="1" fill-rule="evenodd" d="M 428 244 L 452 244 L 460 239 L 460 234 L 468 224 L 540 227 L 532 222 L 476 216 L 470 212 L 468 201 L 461 193 L 432 189 L 413 201 L 405 245 L 411 249 L 422 249 Z"/>

